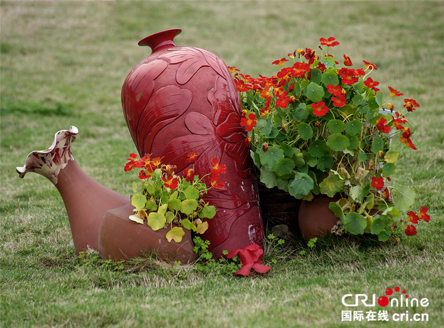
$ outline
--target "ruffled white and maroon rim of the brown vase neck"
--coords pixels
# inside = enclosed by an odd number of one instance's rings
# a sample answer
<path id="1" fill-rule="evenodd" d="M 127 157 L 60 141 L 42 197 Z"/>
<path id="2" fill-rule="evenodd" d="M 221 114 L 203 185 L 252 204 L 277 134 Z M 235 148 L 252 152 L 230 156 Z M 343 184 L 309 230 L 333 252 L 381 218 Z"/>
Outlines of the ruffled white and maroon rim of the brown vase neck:
<path id="1" fill-rule="evenodd" d="M 71 143 L 78 129 L 71 126 L 69 130 L 60 130 L 54 136 L 54 142 L 45 150 L 35 150 L 26 157 L 25 166 L 16 167 L 20 178 L 28 172 L 35 172 L 57 184 L 60 170 L 66 167 L 68 161 L 74 160 Z"/>

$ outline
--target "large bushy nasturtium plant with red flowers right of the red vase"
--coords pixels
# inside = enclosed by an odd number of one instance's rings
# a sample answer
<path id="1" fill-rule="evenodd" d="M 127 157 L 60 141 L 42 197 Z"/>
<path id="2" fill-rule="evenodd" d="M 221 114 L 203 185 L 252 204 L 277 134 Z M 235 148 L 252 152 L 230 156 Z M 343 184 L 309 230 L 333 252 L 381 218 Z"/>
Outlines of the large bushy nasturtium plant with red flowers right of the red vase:
<path id="1" fill-rule="evenodd" d="M 320 193 L 340 195 L 332 208 L 345 230 L 371 232 L 385 241 L 400 233 L 393 222 L 413 205 L 412 190 L 387 181 L 400 152 L 416 149 L 405 115 L 420 105 L 406 98 L 402 110 L 395 111 L 369 76 L 378 70 L 375 64 L 364 60 L 363 67 L 353 68 L 346 54 L 339 62 L 329 53 L 339 45 L 334 37 L 322 37 L 320 43 L 320 54 L 296 49 L 289 59 L 272 62 L 279 71 L 271 77 L 230 68 L 243 106 L 240 124 L 268 188 L 306 200 Z M 392 99 L 403 96 L 391 86 L 388 91 Z M 396 135 L 398 144 L 392 143 Z M 370 215 L 374 207 L 385 210 Z"/>

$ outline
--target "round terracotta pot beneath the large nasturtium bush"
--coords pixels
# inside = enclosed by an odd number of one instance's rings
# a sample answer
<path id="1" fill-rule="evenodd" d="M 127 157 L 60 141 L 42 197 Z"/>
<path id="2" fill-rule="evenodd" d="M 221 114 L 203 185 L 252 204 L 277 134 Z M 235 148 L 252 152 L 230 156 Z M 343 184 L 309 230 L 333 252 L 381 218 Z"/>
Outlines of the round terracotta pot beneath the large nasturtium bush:
<path id="1" fill-rule="evenodd" d="M 299 229 L 305 240 L 330 233 L 339 220 L 329 209 L 330 202 L 339 198 L 331 198 L 319 194 L 312 201 L 302 200 L 299 208 Z"/>

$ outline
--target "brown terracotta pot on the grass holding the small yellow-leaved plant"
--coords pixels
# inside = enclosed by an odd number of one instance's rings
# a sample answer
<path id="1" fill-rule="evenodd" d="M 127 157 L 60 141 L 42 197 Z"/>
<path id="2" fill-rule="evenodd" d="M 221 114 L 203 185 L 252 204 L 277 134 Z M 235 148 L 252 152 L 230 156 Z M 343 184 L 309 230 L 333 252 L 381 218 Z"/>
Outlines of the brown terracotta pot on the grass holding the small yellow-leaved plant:
<path id="1" fill-rule="evenodd" d="M 152 230 L 146 223 L 140 224 L 128 219 L 133 214 L 131 204 L 112 209 L 103 217 L 99 228 L 99 253 L 102 258 L 126 260 L 142 253 L 153 253 L 161 259 L 192 262 L 197 259 L 193 253 L 191 232 L 185 230 L 180 243 L 168 242 L 169 229 Z"/>

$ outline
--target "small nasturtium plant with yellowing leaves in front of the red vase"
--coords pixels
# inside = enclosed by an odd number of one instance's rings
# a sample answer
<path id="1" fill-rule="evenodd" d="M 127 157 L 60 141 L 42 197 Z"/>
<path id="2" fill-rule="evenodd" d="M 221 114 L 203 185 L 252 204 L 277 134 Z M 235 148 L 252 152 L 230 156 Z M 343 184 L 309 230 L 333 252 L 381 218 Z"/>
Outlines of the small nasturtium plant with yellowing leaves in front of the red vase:
<path id="1" fill-rule="evenodd" d="M 146 221 L 153 230 L 171 226 L 166 238 L 169 242 L 179 243 L 185 235 L 183 228 L 196 233 L 204 233 L 208 229 L 208 222 L 204 219 L 212 219 L 216 208 L 205 203 L 202 195 L 212 187 L 224 186 L 219 179 L 222 173 L 226 173 L 226 168 L 213 158 L 211 173 L 207 175 L 210 186 L 207 187 L 202 181 L 204 177 L 201 179 L 195 174 L 194 167 L 186 168 L 183 175 L 178 176 L 175 174 L 176 167 L 163 164 L 162 158 L 151 158 L 147 154 L 138 159 L 137 154 L 131 153 L 127 159 L 124 171 L 135 170 L 139 177 L 139 183 L 133 182 L 131 203 L 135 214 L 129 219 L 141 224 Z M 197 158 L 198 154 L 191 152 L 186 161 L 194 164 Z"/>

